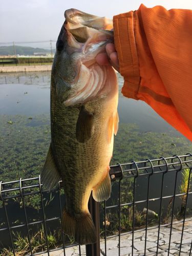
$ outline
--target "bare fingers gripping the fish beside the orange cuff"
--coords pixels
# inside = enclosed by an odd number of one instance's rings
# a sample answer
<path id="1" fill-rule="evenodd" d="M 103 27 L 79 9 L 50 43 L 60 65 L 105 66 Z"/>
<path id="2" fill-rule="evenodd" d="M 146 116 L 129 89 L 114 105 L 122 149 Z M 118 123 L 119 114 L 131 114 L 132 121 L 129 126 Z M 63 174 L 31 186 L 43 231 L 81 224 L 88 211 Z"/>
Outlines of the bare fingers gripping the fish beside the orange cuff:
<path id="1" fill-rule="evenodd" d="M 106 52 L 105 53 L 99 53 L 96 56 L 96 61 L 99 65 L 111 65 L 115 70 L 119 72 L 119 59 L 117 52 L 115 50 L 115 45 L 112 43 L 109 43 L 105 47 Z"/>

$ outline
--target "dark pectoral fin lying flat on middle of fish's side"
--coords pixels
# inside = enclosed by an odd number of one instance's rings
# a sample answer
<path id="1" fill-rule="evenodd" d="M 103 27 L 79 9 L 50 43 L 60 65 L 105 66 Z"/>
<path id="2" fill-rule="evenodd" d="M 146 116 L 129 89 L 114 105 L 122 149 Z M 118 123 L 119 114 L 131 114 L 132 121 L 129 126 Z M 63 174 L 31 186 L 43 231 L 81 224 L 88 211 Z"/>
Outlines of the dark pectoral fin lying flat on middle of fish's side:
<path id="1" fill-rule="evenodd" d="M 91 138 L 93 133 L 93 114 L 81 107 L 76 123 L 76 139 L 84 143 Z"/>

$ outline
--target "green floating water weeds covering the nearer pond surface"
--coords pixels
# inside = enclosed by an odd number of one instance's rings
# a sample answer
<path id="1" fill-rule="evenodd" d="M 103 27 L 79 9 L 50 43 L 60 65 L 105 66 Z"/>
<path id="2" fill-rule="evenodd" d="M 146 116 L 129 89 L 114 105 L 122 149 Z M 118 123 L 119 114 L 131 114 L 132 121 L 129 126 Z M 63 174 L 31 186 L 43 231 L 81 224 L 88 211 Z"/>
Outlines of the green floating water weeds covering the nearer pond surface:
<path id="1" fill-rule="evenodd" d="M 9 125 L 11 120 L 12 125 Z M 38 176 L 50 144 L 50 116 L 0 116 L 0 179 L 15 180 Z M 172 146 L 172 143 L 176 147 Z M 140 132 L 136 124 L 120 123 L 111 164 L 157 156 L 181 155 L 192 151 L 191 143 L 172 132 Z"/>

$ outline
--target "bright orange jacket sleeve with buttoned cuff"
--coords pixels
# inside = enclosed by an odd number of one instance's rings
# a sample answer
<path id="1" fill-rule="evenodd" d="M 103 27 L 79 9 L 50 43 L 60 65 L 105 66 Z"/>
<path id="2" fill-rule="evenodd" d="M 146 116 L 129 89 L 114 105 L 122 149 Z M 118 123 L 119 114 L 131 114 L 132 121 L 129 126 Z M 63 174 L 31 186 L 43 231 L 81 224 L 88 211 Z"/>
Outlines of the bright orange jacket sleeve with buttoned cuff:
<path id="1" fill-rule="evenodd" d="M 192 11 L 161 6 L 114 16 L 122 93 L 192 140 Z"/>

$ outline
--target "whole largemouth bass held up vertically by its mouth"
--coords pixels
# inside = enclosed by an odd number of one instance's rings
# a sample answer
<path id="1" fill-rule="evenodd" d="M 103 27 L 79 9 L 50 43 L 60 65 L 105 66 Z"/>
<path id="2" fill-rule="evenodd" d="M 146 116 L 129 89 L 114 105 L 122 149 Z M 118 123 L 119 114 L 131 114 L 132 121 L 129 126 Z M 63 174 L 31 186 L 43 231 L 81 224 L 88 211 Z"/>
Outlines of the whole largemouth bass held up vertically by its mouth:
<path id="1" fill-rule="evenodd" d="M 41 174 L 46 189 L 62 179 L 63 231 L 79 244 L 96 242 L 88 200 L 111 194 L 109 164 L 118 130 L 118 84 L 110 66 L 95 61 L 113 41 L 112 20 L 65 12 L 51 74 L 51 144 Z"/>

